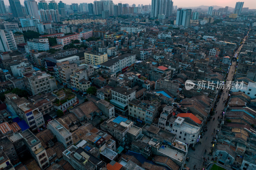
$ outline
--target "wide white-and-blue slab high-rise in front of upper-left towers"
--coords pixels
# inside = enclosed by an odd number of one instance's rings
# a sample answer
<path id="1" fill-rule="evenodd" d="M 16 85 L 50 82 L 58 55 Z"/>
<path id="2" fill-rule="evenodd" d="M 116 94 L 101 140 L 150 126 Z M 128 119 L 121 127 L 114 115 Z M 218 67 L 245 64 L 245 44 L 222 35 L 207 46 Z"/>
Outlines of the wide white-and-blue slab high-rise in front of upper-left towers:
<path id="1" fill-rule="evenodd" d="M 59 11 L 58 10 L 43 10 L 38 11 L 40 16 L 40 21 L 50 21 L 50 22 L 60 22 Z"/>

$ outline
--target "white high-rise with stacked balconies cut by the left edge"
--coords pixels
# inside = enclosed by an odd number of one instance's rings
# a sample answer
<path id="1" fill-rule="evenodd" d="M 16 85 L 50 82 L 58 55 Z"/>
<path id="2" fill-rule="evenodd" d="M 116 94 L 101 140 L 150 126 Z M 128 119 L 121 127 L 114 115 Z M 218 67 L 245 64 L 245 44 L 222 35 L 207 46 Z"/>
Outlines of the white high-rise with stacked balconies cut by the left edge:
<path id="1" fill-rule="evenodd" d="M 6 52 L 17 49 L 14 35 L 11 30 L 0 29 L 0 51 Z"/>

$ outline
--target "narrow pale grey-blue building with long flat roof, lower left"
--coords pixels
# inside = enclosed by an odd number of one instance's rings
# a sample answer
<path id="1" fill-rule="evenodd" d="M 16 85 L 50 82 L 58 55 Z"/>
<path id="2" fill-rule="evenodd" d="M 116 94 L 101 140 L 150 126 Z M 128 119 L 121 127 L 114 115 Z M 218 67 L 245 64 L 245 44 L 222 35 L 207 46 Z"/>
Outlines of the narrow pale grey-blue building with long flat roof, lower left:
<path id="1" fill-rule="evenodd" d="M 73 144 L 72 133 L 70 133 L 62 124 L 56 119 L 48 122 L 47 128 L 56 136 L 57 140 L 66 148 Z"/>

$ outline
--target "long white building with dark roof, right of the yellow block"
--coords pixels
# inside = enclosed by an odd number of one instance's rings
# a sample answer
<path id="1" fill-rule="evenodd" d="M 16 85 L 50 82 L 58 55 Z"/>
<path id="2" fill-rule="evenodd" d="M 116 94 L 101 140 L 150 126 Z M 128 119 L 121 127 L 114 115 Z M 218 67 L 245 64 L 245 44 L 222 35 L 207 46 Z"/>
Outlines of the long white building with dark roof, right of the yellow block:
<path id="1" fill-rule="evenodd" d="M 132 53 L 126 53 L 120 56 L 117 56 L 115 58 L 112 58 L 111 60 L 100 64 L 100 67 L 110 69 L 111 72 L 125 72 L 129 70 L 131 67 L 133 67 L 133 64 L 135 63 L 135 54 Z"/>

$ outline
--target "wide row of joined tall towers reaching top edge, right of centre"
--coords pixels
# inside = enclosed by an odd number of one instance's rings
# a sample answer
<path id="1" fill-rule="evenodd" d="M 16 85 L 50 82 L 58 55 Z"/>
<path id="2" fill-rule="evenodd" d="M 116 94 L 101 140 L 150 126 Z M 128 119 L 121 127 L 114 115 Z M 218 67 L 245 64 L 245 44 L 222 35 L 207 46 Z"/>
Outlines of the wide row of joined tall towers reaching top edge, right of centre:
<path id="1" fill-rule="evenodd" d="M 171 16 L 173 8 L 172 0 L 152 0 L 151 17 L 158 17 L 158 14 Z"/>

